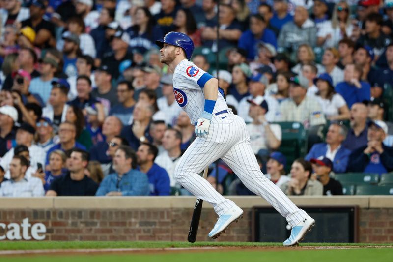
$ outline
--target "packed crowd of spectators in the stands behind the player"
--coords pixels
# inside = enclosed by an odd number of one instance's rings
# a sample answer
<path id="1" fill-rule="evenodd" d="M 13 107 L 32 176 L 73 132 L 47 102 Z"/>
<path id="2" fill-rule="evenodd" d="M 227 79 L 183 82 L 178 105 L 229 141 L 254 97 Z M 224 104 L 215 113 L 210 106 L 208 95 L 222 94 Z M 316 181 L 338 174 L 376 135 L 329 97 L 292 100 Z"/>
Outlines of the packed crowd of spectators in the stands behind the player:
<path id="1" fill-rule="evenodd" d="M 169 31 L 287 195 L 393 171 L 393 0 L 0 0 L 0 196 L 189 194 L 173 173 L 194 125 L 155 45 Z M 307 130 L 293 163 L 282 122 Z M 208 180 L 252 194 L 219 160 Z"/>

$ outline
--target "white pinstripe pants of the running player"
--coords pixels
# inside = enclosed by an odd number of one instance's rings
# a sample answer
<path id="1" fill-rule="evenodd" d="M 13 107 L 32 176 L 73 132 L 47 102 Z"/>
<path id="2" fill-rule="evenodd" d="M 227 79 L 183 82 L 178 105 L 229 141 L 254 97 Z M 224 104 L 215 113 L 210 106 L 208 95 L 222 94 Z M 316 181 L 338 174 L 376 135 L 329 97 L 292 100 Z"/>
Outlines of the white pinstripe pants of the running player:
<path id="1" fill-rule="evenodd" d="M 224 117 L 222 119 L 221 117 Z M 267 200 L 292 227 L 307 213 L 299 209 L 259 169 L 250 146 L 250 135 L 244 120 L 231 113 L 213 116 L 209 135 L 197 138 L 183 154 L 175 168 L 175 178 L 185 189 L 213 205 L 218 216 L 235 203 L 225 199 L 200 175 L 205 167 L 221 158 L 256 195 Z"/>

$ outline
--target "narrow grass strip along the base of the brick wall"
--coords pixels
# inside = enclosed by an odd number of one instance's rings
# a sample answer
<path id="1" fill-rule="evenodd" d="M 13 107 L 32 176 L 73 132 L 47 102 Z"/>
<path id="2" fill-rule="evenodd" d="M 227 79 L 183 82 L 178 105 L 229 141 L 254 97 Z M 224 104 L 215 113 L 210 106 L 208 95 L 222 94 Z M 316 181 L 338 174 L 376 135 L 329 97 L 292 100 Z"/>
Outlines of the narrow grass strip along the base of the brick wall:
<path id="1" fill-rule="evenodd" d="M 368 243 L 302 243 L 301 246 L 392 246 L 390 244 Z M 5 241 L 0 243 L 0 250 L 33 249 L 91 249 L 91 248 L 166 248 L 166 247 L 282 247 L 282 243 L 258 242 L 165 242 L 165 241 Z"/>

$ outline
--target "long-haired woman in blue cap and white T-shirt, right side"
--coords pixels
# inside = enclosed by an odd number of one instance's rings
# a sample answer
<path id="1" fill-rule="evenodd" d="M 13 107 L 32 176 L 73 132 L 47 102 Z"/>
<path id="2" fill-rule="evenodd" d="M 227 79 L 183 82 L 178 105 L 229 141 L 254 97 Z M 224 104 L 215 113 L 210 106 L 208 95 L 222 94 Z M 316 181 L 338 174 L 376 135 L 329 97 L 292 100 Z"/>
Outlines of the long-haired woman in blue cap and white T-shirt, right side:
<path id="1" fill-rule="evenodd" d="M 315 95 L 325 117 L 329 120 L 349 119 L 348 106 L 344 98 L 336 93 L 330 75 L 328 73 L 320 74 L 314 79 L 314 84 L 318 87 L 318 92 Z"/>

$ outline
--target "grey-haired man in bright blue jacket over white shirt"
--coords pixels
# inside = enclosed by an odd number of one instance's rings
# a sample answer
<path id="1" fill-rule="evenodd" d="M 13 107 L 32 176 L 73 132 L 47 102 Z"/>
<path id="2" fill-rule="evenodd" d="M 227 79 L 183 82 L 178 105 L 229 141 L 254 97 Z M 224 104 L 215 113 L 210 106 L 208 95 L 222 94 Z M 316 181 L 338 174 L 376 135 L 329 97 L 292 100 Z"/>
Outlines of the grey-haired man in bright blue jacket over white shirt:
<path id="1" fill-rule="evenodd" d="M 326 157 L 334 163 L 332 171 L 335 173 L 344 173 L 347 169 L 348 158 L 351 151 L 342 146 L 347 135 L 347 129 L 344 125 L 332 123 L 326 134 L 326 143 L 318 143 L 311 147 L 305 159 L 310 161 L 311 158 Z"/>

